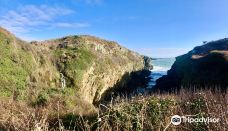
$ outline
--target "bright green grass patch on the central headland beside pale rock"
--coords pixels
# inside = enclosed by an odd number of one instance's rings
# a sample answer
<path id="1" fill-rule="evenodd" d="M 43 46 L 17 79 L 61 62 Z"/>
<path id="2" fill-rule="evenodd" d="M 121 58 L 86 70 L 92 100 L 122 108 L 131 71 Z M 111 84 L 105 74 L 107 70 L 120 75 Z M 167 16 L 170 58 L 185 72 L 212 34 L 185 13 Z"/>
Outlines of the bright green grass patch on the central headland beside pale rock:
<path id="1" fill-rule="evenodd" d="M 63 54 L 68 56 L 66 61 L 61 61 Z M 81 86 L 85 71 L 91 67 L 96 59 L 95 55 L 84 46 L 57 49 L 54 55 L 59 59 L 60 71 L 66 75 L 67 86 L 77 88 Z"/>

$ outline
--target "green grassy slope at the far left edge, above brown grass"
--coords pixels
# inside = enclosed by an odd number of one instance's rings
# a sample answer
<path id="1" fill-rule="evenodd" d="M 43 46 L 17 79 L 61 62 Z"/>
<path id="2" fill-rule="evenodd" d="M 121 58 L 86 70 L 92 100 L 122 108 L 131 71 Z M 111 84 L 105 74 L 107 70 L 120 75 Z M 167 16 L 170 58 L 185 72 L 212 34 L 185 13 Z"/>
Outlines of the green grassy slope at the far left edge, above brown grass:
<path id="1" fill-rule="evenodd" d="M 0 33 L 0 96 L 10 97 L 13 93 L 24 98 L 26 79 L 33 68 L 29 52 L 13 45 L 13 39 Z"/>

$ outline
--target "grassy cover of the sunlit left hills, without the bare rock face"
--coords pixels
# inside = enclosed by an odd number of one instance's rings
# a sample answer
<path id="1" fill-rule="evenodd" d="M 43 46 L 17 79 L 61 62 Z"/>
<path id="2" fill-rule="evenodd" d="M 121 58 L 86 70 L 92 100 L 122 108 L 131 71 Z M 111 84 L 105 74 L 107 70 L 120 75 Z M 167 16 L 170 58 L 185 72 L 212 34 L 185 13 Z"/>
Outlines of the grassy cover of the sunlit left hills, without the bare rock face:
<path id="1" fill-rule="evenodd" d="M 57 47 L 68 39 L 69 46 Z M 76 112 L 89 113 L 94 107 L 83 102 L 78 95 L 84 74 L 94 65 L 96 77 L 94 85 L 101 90 L 104 82 L 100 74 L 108 69 L 119 68 L 128 62 L 137 63 L 140 58 L 130 51 L 121 52 L 117 43 L 91 36 L 70 36 L 50 40 L 41 45 L 29 44 L 14 37 L 1 28 L 0 30 L 0 98 L 11 99 L 28 104 L 31 107 L 52 106 L 59 102 L 60 108 L 75 109 Z M 87 44 L 88 42 L 92 44 Z M 113 56 L 95 51 L 96 43 L 105 49 L 116 51 Z M 130 57 L 130 59 L 128 58 Z M 142 65 L 136 65 L 142 66 Z M 60 87 L 60 75 L 65 75 L 67 87 Z M 121 76 L 120 76 L 121 77 Z"/>

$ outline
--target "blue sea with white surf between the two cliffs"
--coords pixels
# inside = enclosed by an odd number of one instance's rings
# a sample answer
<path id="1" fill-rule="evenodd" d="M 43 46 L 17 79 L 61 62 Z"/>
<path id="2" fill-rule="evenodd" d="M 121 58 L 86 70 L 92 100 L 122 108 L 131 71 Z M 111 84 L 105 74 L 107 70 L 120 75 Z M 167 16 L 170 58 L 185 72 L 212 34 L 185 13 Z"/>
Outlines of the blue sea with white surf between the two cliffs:
<path id="1" fill-rule="evenodd" d="M 156 84 L 156 80 L 167 74 L 167 71 L 171 68 L 175 61 L 175 58 L 157 58 L 152 60 L 153 70 L 151 70 L 151 80 L 147 85 L 147 88 L 151 89 Z"/>

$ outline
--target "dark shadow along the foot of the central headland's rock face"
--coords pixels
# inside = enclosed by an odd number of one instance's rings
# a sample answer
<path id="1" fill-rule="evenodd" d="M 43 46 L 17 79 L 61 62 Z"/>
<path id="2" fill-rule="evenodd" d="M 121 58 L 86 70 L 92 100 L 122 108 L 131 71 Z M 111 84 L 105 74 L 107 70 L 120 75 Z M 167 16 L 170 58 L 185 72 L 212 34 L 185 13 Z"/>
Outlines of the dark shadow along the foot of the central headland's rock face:
<path id="1" fill-rule="evenodd" d="M 103 93 L 100 101 L 94 102 L 93 104 L 98 105 L 99 103 L 108 103 L 117 96 L 130 97 L 138 94 L 138 88 L 146 88 L 147 83 L 151 79 L 150 74 L 151 72 L 146 69 L 125 73 L 114 87 L 111 87 Z"/>

